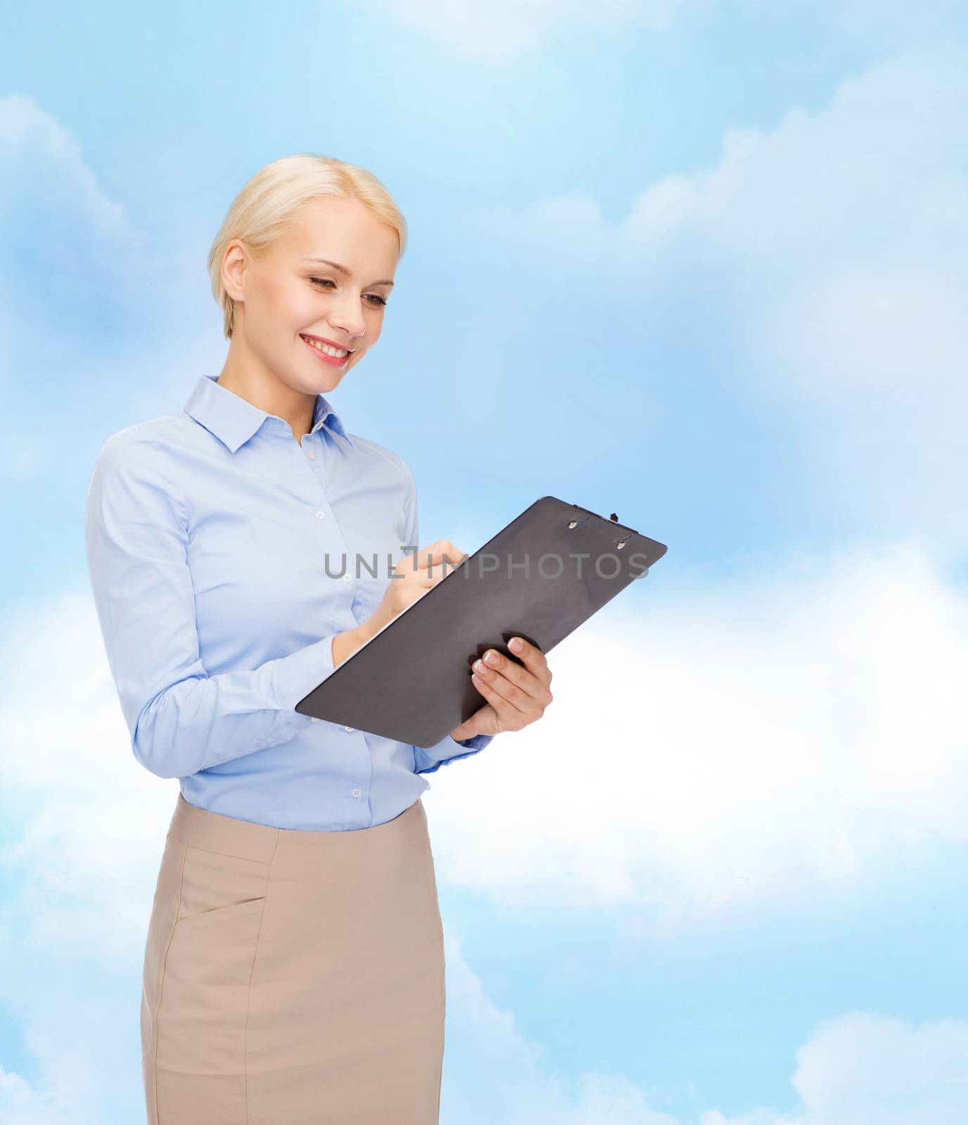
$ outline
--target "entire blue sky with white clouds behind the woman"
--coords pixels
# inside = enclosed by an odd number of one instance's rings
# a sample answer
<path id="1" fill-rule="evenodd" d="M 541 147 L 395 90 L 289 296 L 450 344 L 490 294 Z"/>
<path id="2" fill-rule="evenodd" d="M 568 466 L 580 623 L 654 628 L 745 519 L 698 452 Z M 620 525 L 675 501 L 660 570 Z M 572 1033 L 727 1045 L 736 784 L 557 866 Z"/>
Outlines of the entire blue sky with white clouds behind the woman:
<path id="1" fill-rule="evenodd" d="M 421 538 L 537 496 L 669 544 L 432 777 L 443 1125 L 968 1120 L 968 6 L 37 3 L 0 43 L 0 1123 L 143 1119 L 177 783 L 83 555 L 105 438 L 226 342 L 245 180 L 411 242 L 334 393 Z M 507 740 L 505 740 L 507 739 Z M 123 844 L 119 844 L 123 842 Z"/>

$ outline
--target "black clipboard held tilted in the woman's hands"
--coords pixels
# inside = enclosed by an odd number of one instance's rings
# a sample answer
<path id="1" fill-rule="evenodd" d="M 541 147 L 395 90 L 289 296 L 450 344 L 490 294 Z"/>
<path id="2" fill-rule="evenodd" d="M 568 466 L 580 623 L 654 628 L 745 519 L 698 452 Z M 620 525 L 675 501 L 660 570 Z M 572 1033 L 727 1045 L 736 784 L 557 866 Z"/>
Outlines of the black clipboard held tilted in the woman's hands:
<path id="1" fill-rule="evenodd" d="M 296 710 L 433 746 L 485 705 L 470 665 L 489 648 L 522 664 L 507 646 L 517 636 L 547 655 L 666 550 L 615 520 L 541 496 L 370 637 Z M 403 567 L 414 565 L 412 557 L 404 556 Z"/>

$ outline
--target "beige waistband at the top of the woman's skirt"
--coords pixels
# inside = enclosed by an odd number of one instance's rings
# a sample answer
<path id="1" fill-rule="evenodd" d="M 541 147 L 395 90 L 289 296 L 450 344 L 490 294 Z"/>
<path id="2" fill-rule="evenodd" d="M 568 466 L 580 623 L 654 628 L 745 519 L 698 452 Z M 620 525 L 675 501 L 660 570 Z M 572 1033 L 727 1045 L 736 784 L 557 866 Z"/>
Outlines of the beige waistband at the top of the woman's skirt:
<path id="1" fill-rule="evenodd" d="M 186 801 L 179 793 L 169 834 L 192 847 L 269 863 L 279 845 L 285 845 L 285 850 L 290 854 L 324 848 L 367 848 L 377 843 L 385 846 L 385 837 L 407 830 L 414 820 L 422 821 L 425 828 L 427 812 L 420 798 L 393 820 L 370 828 L 351 828 L 346 831 L 272 828 L 270 825 L 257 825 L 251 820 L 209 812 L 208 809 L 200 809 Z"/>

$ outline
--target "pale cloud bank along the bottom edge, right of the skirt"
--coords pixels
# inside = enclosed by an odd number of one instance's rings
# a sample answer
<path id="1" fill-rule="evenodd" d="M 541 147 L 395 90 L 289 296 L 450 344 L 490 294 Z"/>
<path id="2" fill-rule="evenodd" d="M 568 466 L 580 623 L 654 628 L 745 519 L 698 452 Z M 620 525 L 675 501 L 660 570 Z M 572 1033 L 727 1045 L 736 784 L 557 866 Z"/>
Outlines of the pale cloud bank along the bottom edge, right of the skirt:
<path id="1" fill-rule="evenodd" d="M 499 1010 L 448 937 L 447 1060 L 441 1125 L 679 1125 L 620 1073 L 563 1079 L 540 1048 Z M 850 1011 L 823 1020 L 796 1052 L 789 1113 L 759 1107 L 737 1117 L 718 1109 L 700 1125 L 963 1125 L 968 1119 L 968 1022 L 921 1024 Z M 690 1100 L 701 1100 L 692 1089 Z"/>

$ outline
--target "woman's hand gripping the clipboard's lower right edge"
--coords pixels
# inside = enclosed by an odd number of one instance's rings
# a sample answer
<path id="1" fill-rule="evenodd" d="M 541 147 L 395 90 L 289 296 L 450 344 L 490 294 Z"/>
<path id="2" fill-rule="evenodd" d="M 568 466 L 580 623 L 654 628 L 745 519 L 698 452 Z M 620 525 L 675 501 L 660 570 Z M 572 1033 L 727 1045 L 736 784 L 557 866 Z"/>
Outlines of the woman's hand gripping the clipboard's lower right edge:
<path id="1" fill-rule="evenodd" d="M 450 731 L 458 742 L 474 735 L 521 730 L 540 719 L 552 702 L 552 672 L 545 654 L 521 637 L 512 637 L 508 648 L 525 662 L 523 667 L 493 648 L 474 662 L 472 683 L 487 703 Z"/>

